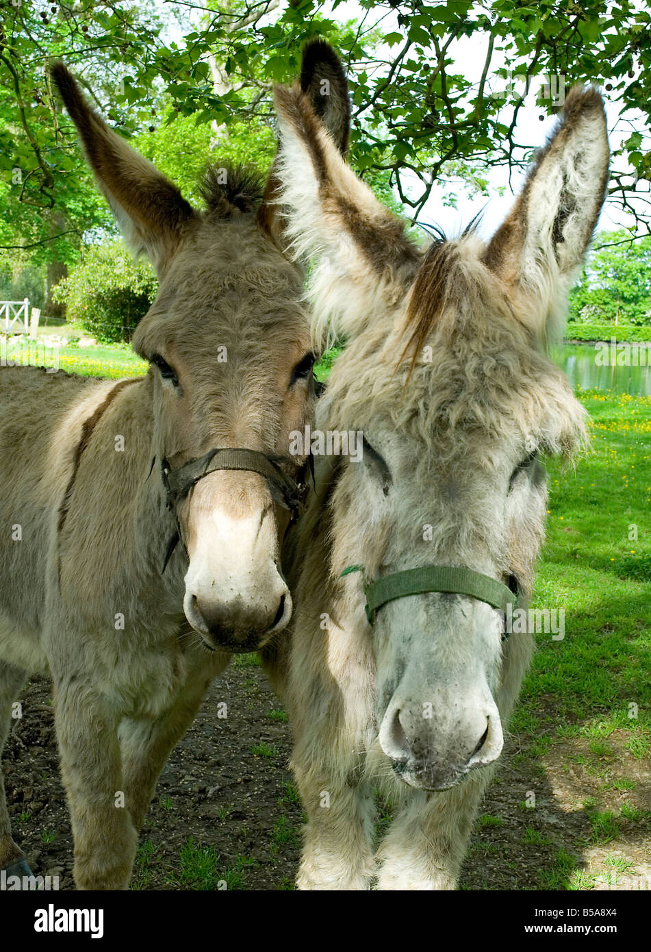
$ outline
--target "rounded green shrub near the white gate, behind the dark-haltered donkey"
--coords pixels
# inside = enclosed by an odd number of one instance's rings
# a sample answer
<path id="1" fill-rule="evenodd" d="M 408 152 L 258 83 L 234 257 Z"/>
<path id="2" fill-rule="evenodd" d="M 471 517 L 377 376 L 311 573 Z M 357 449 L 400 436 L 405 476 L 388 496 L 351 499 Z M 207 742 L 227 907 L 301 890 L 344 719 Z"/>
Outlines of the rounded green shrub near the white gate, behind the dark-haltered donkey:
<path id="1" fill-rule="evenodd" d="M 153 268 L 144 258 L 135 261 L 119 242 L 88 248 L 67 278 L 52 291 L 66 305 L 69 322 L 98 341 L 129 341 L 156 296 Z"/>

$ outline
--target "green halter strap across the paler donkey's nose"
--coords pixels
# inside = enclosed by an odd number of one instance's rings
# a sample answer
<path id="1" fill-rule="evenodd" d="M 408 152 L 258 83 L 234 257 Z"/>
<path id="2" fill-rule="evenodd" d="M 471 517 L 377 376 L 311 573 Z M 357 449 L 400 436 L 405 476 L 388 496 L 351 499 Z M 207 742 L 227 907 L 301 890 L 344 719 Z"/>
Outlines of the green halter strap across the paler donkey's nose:
<path id="1" fill-rule="evenodd" d="M 363 571 L 363 568 L 363 565 L 348 565 L 342 575 Z M 407 595 L 422 595 L 424 592 L 470 595 L 502 612 L 506 611 L 507 605 L 515 607 L 518 602 L 517 594 L 507 585 L 471 568 L 422 565 L 419 568 L 406 568 L 402 572 L 391 572 L 377 582 L 365 585 L 366 617 L 373 625 L 378 609 L 387 602 L 394 602 Z"/>

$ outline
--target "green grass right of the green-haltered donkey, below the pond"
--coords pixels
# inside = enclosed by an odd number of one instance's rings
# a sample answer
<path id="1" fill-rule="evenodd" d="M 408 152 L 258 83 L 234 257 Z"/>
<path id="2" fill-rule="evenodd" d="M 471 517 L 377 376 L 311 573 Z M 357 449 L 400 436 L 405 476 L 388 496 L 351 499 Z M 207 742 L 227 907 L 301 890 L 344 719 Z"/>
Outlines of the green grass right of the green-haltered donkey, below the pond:
<path id="1" fill-rule="evenodd" d="M 651 398 L 579 394 L 592 447 L 576 469 L 549 461 L 547 544 L 533 605 L 562 607 L 565 636 L 538 636 L 513 725 L 528 726 L 543 697 L 565 738 L 603 741 L 624 731 L 651 749 Z M 629 532 L 637 539 L 628 538 Z M 593 744 L 593 753 L 609 752 Z"/>

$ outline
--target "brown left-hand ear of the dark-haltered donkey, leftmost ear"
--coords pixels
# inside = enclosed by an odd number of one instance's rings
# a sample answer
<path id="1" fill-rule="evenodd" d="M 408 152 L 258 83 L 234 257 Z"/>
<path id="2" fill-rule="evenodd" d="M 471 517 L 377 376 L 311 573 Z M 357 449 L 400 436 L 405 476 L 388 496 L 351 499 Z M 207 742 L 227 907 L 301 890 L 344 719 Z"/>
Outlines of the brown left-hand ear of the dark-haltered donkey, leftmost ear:
<path id="1" fill-rule="evenodd" d="M 164 267 L 194 211 L 178 188 L 89 108 L 63 63 L 52 66 L 51 76 L 128 247 Z"/>

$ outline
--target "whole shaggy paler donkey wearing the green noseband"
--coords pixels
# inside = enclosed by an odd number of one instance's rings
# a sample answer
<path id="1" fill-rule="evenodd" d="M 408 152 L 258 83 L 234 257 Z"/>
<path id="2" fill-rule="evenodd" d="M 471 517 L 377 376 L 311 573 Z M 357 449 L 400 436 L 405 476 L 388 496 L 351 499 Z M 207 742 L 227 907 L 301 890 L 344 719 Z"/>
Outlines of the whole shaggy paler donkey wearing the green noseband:
<path id="1" fill-rule="evenodd" d="M 527 605 L 542 544 L 537 454 L 582 445 L 584 412 L 543 342 L 602 208 L 602 99 L 567 97 L 487 246 L 470 230 L 424 251 L 302 89 L 279 89 L 276 106 L 317 330 L 347 338 L 317 426 L 365 437 L 363 461 L 317 462 L 284 558 L 291 641 L 287 628 L 266 648 L 307 813 L 298 884 L 453 888 L 533 646 L 509 613 Z M 377 786 L 396 813 L 376 854 Z"/>

